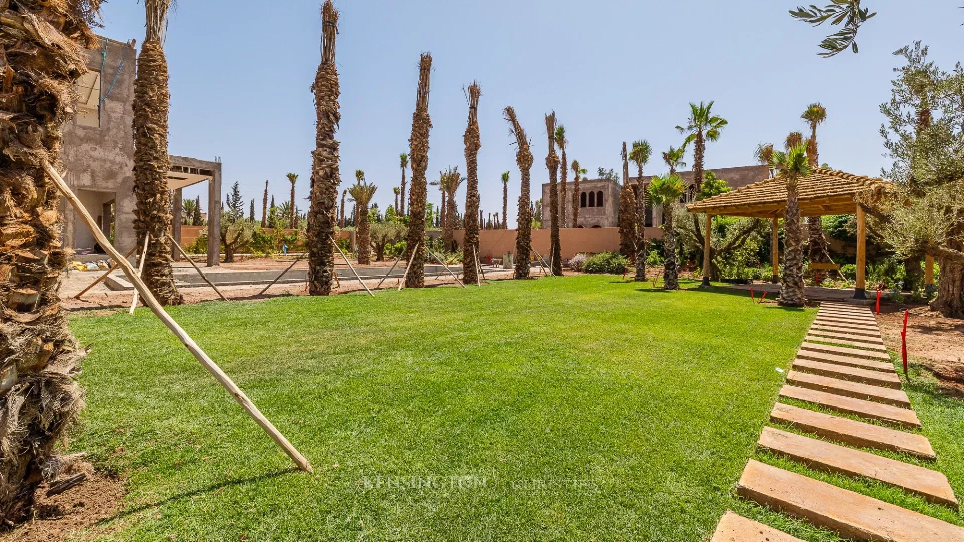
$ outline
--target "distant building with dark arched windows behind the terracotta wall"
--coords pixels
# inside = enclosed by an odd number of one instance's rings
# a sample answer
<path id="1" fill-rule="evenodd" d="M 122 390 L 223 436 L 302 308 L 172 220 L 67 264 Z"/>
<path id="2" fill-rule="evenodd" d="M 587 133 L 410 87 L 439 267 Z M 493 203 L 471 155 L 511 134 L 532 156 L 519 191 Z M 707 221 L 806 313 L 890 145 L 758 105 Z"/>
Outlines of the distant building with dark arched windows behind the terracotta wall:
<path id="1" fill-rule="evenodd" d="M 717 177 L 725 180 L 732 189 L 763 180 L 769 176 L 766 166 L 741 166 L 737 168 L 708 169 Z M 688 189 L 691 201 L 695 193 L 693 172 L 680 172 L 683 182 Z M 653 176 L 643 176 L 643 185 L 648 186 Z M 639 179 L 629 177 L 629 184 L 635 186 Z M 623 185 L 608 178 L 593 178 L 579 180 L 579 228 L 619 228 L 619 193 Z M 571 227 L 573 221 L 573 191 L 576 183 L 566 183 L 566 222 Z M 682 203 L 681 203 L 682 204 Z M 549 216 L 549 183 L 543 184 L 543 228 L 550 228 L 552 224 Z M 646 226 L 656 227 L 662 224 L 662 208 L 646 207 Z"/>

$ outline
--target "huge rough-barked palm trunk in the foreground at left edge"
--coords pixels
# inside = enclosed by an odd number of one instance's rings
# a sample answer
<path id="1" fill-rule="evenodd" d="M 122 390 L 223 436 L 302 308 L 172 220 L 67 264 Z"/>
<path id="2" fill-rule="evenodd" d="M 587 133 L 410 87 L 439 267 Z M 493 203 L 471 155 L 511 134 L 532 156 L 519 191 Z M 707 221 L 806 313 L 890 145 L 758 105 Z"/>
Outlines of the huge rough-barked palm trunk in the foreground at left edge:
<path id="1" fill-rule="evenodd" d="M 88 350 L 70 334 L 60 304 L 59 279 L 69 260 L 59 240 L 58 190 L 40 163 L 64 170 L 61 126 L 74 118 L 78 96 L 71 89 L 88 72 L 85 49 L 102 46 L 90 27 L 99 4 L 4 3 L 3 109 L 11 115 L 0 130 L 0 521 L 6 525 L 30 515 L 44 479 L 73 474 L 58 465 L 75 464 L 59 462 L 56 449 L 84 406 L 76 377 Z"/>

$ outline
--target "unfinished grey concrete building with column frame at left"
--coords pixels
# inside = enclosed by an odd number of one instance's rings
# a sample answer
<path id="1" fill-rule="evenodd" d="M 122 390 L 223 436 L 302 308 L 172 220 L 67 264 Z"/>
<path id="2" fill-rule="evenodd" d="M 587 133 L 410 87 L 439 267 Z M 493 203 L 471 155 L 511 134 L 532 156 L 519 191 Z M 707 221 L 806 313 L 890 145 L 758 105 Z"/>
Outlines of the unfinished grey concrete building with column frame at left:
<path id="1" fill-rule="evenodd" d="M 65 180 L 87 207 L 100 229 L 121 254 L 139 243 L 134 234 L 134 78 L 137 50 L 133 42 L 100 39 L 88 51 L 90 72 L 77 82 L 81 95 L 77 118 L 64 126 Z M 171 156 L 169 187 L 174 190 L 174 238 L 179 240 L 181 190 L 208 181 L 209 266 L 221 258 L 221 163 Z M 94 252 L 94 235 L 61 199 L 65 219 L 63 241 L 78 253 Z M 100 259 L 103 256 L 78 259 Z"/>

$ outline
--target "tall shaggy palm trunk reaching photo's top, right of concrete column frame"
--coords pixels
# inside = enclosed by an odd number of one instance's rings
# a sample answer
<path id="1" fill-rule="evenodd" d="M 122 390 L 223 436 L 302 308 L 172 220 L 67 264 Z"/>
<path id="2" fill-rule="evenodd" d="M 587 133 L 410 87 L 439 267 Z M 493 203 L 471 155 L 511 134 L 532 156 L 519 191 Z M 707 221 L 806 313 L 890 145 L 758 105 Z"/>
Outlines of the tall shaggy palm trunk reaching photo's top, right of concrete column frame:
<path id="1" fill-rule="evenodd" d="M 308 209 L 308 294 L 329 295 L 335 283 L 335 225 L 340 157 L 335 131 L 341 121 L 335 45 L 338 12 L 332 0 L 321 9 L 321 62 L 311 91 L 314 94 L 315 138 L 311 152 L 311 188 Z"/>

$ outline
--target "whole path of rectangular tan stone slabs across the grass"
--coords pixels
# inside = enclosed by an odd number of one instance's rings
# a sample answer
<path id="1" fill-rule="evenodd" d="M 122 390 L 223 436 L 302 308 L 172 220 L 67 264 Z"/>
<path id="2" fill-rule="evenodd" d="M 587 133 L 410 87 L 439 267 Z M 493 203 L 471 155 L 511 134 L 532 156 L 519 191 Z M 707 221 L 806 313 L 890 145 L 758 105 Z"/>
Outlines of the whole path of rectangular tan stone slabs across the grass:
<path id="1" fill-rule="evenodd" d="M 926 501 L 956 509 L 957 498 L 946 475 L 854 448 L 897 451 L 928 460 L 937 458 L 924 435 L 901 430 L 920 428 L 921 421 L 900 387 L 900 377 L 873 313 L 860 307 L 824 303 L 797 353 L 780 397 L 896 427 L 777 402 L 770 412 L 771 422 L 845 446 L 775 427 L 763 428 L 758 445 L 818 471 L 879 480 Z M 854 540 L 964 542 L 964 528 L 753 459 L 747 462 L 736 493 Z M 727 512 L 711 542 L 758 540 L 797 539 Z"/>

